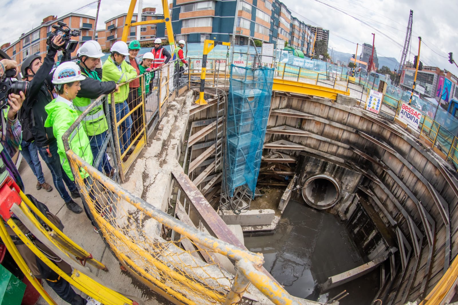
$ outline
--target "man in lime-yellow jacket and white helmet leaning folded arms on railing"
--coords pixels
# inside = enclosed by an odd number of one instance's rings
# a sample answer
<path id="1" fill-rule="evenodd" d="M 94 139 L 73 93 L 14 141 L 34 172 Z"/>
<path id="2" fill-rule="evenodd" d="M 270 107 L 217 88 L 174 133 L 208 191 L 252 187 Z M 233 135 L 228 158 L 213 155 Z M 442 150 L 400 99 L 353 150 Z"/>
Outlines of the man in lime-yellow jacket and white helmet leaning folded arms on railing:
<path id="1" fill-rule="evenodd" d="M 114 81 L 117 84 L 121 82 L 127 82 L 130 79 L 137 77 L 136 70 L 125 62 L 125 56 L 129 55 L 127 44 L 124 41 L 117 41 L 113 44 L 110 49 L 111 55 L 105 61 L 102 67 L 103 75 L 102 82 Z M 120 136 L 120 149 L 121 155 L 124 154 L 123 161 L 127 161 L 130 155 L 128 151 L 129 145 L 131 144 L 131 127 L 132 120 L 129 113 L 129 105 L 127 104 L 127 97 L 129 95 L 129 84 L 125 84 L 119 87 L 118 92 L 114 93 L 114 100 L 111 100 L 109 96 L 109 102 L 114 103 L 114 109 L 116 111 L 116 121 L 119 122 L 125 117 L 125 120 L 121 123 L 122 136 Z M 110 115 L 113 118 L 112 108 L 110 107 Z M 120 128 L 118 127 L 118 133 Z M 113 131 L 114 134 L 114 131 Z M 122 140 L 122 142 L 121 142 Z M 125 153 L 124 153 L 125 152 Z"/>

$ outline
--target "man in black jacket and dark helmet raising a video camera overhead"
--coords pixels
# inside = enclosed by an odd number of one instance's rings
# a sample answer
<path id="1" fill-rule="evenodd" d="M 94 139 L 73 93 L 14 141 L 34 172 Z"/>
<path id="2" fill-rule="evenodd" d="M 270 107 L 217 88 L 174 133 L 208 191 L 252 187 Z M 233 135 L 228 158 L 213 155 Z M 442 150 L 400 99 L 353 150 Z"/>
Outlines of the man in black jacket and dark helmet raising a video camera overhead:
<path id="1" fill-rule="evenodd" d="M 52 101 L 52 74 L 50 74 L 54 58 L 57 50 L 64 45 L 65 41 L 59 34 L 55 36 L 52 43 L 49 45 L 48 54 L 41 62 L 41 56 L 31 55 L 28 56 L 21 66 L 23 77 L 27 77 L 30 82 L 28 86 L 27 97 L 22 106 L 22 123 L 24 129 L 29 129 L 35 139 L 38 147 L 38 152 L 41 158 L 48 165 L 51 175 L 53 176 L 54 186 L 59 192 L 60 197 L 65 202 L 65 206 L 74 213 L 81 213 L 83 210 L 71 198 L 80 197 L 76 185 L 65 174 L 62 166 L 60 165 L 59 154 L 57 153 L 57 142 L 53 135 L 52 127 L 44 127 L 44 121 L 48 114 L 44 110 L 49 102 Z M 28 139 L 27 139 L 28 140 Z M 64 180 L 68 189 L 70 190 L 71 197 L 65 190 Z"/>

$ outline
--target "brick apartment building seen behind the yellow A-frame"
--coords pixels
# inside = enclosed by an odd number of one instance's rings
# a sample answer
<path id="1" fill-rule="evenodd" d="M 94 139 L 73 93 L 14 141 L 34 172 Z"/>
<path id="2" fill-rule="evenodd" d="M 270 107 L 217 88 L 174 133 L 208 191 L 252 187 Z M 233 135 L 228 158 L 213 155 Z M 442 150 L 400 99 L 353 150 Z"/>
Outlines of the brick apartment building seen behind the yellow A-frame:
<path id="1" fill-rule="evenodd" d="M 102 35 L 102 31 L 97 31 L 100 41 L 98 43 L 102 46 L 102 49 L 111 47 L 116 41 L 120 41 L 122 38 L 122 31 L 126 23 L 125 18 L 127 13 L 115 16 L 105 21 L 105 35 Z M 156 14 L 156 8 L 145 7 L 142 9 L 141 20 L 138 21 L 149 21 L 164 19 L 164 15 Z M 132 22 L 137 21 L 137 14 L 133 14 Z M 127 42 L 136 39 L 137 27 L 131 27 L 131 32 L 127 38 Z M 103 41 L 105 37 L 105 41 Z M 165 29 L 165 23 L 147 24 L 140 27 L 140 42 L 154 41 L 156 38 L 167 39 L 167 31 Z M 103 44 L 102 44 L 103 42 Z"/>

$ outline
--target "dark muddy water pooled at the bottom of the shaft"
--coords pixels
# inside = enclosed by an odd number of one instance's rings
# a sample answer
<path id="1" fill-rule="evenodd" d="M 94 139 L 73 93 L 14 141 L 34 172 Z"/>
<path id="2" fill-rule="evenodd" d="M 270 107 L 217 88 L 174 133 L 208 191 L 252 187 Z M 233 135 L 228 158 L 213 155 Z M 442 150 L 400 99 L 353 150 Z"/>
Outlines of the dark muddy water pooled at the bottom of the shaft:
<path id="1" fill-rule="evenodd" d="M 379 268 L 320 293 L 328 277 L 363 265 L 344 223 L 327 212 L 290 201 L 275 234 L 245 237 L 245 246 L 264 255 L 264 267 L 292 295 L 326 302 L 343 290 L 342 305 L 369 305 L 379 287 Z"/>

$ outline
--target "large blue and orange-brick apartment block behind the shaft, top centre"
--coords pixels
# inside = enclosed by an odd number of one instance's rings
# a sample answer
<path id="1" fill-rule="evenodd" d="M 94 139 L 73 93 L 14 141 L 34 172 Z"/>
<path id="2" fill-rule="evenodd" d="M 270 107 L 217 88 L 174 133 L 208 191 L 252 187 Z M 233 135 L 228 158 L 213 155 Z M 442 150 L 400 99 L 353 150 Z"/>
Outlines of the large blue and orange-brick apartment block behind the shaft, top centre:
<path id="1" fill-rule="evenodd" d="M 199 1 L 173 0 L 172 27 L 176 39 L 203 42 L 205 39 L 231 41 L 235 27 L 235 43 L 246 44 L 249 37 L 263 42 L 288 42 L 310 54 L 314 34 L 304 22 L 294 23 L 291 11 L 278 0 Z M 294 32 L 293 32 L 294 31 Z M 329 32 L 327 32 L 329 33 Z"/>

